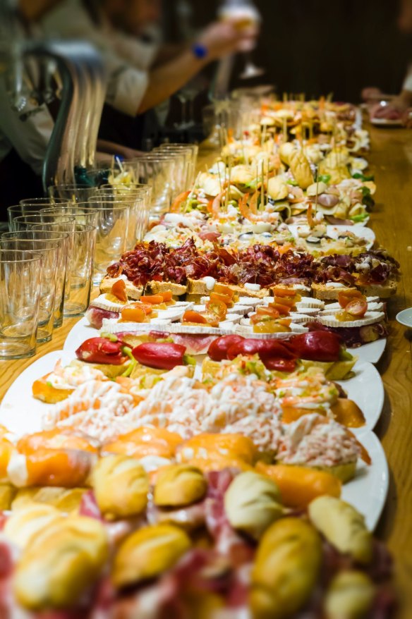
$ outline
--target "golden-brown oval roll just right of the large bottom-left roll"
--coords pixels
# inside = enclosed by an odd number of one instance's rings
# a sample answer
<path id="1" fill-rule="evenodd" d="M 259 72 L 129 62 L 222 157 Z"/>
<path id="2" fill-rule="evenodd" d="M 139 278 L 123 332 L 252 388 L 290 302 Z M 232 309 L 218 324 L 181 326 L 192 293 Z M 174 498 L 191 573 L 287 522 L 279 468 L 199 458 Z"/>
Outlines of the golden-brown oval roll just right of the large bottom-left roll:
<path id="1" fill-rule="evenodd" d="M 154 525 L 123 541 L 114 558 L 112 580 L 126 587 L 169 570 L 191 546 L 190 538 L 173 525 Z"/>

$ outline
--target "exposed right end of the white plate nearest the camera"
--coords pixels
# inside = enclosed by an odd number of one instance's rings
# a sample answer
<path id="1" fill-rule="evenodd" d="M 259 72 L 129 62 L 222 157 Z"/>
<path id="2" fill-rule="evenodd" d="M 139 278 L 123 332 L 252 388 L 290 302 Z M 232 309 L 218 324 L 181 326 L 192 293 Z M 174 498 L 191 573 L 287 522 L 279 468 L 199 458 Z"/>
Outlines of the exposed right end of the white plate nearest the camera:
<path id="1" fill-rule="evenodd" d="M 376 434 L 365 431 L 358 439 L 372 458 L 372 464 L 368 466 L 360 461 L 355 479 L 343 486 L 342 498 L 363 513 L 369 529 L 375 529 L 387 498 L 389 469 Z"/>

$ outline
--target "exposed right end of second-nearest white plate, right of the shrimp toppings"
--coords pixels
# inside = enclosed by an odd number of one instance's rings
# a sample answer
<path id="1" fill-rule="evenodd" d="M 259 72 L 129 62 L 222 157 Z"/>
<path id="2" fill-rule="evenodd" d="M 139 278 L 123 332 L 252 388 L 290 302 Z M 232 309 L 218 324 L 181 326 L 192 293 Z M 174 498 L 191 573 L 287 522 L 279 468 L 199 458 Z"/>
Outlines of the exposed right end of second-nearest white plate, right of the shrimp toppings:
<path id="1" fill-rule="evenodd" d="M 353 371 L 353 378 L 337 382 L 365 415 L 365 426 L 352 429 L 358 435 L 366 429 L 372 430 L 377 424 L 384 403 L 384 388 L 380 374 L 372 363 L 357 362 Z"/>

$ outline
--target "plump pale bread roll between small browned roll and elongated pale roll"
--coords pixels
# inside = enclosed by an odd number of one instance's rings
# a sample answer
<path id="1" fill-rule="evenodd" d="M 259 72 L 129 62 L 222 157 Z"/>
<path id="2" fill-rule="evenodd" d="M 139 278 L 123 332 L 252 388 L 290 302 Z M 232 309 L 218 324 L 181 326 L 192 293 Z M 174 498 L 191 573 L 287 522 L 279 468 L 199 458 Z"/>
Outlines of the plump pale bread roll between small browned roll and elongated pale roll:
<path id="1" fill-rule="evenodd" d="M 260 539 L 283 513 L 277 485 L 253 471 L 234 478 L 224 495 L 224 509 L 232 527 L 254 539 Z"/>

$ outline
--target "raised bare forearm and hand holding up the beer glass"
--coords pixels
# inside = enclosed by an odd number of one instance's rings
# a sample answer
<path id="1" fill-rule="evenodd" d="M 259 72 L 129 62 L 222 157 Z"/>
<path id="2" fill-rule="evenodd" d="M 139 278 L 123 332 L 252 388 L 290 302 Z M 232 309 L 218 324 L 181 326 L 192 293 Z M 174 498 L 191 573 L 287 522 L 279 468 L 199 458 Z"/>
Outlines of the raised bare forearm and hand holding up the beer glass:
<path id="1" fill-rule="evenodd" d="M 168 99 L 171 94 L 177 92 L 199 73 L 207 63 L 239 50 L 252 49 L 256 35 L 255 27 L 236 30 L 233 23 L 213 23 L 198 39 L 198 44 L 207 52 L 204 58 L 198 58 L 192 49 L 186 49 L 175 59 L 150 72 L 149 82 L 140 100 L 137 114 L 143 114 Z"/>

